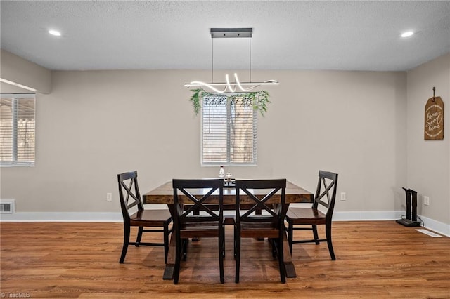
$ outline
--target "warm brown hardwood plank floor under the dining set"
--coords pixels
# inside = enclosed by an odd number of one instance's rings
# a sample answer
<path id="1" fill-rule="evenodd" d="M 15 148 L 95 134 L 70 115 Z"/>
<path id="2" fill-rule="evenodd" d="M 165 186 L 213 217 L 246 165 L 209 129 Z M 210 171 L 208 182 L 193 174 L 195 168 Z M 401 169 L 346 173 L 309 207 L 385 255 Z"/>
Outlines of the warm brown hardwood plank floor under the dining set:
<path id="1" fill-rule="evenodd" d="M 295 244 L 297 278 L 286 284 L 279 281 L 269 243 L 255 239 L 243 240 L 240 283 L 234 283 L 231 226 L 225 284 L 219 283 L 217 240 L 202 239 L 190 242 L 178 285 L 162 280 L 162 247 L 130 246 L 119 263 L 122 223 L 0 226 L 4 298 L 450 298 L 450 238 L 432 238 L 394 221 L 334 222 L 335 261 L 326 244 Z"/>

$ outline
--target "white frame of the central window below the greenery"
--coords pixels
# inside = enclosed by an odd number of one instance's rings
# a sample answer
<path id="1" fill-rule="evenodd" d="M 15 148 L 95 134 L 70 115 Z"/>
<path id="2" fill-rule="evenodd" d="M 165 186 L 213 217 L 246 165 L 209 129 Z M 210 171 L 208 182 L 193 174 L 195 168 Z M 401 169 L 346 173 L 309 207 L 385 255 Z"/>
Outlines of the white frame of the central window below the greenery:
<path id="1" fill-rule="evenodd" d="M 257 166 L 257 110 L 252 109 L 252 161 L 251 162 L 236 162 L 231 161 L 231 109 L 232 109 L 232 96 L 233 95 L 243 95 L 245 93 L 226 93 L 226 161 L 205 161 L 203 157 L 203 124 L 205 121 L 205 115 L 203 109 L 205 107 L 205 99 L 202 99 L 202 107 L 200 109 L 200 165 L 201 166 Z M 222 97 L 223 94 L 217 95 L 217 97 Z M 234 104 L 236 105 L 236 103 Z"/>

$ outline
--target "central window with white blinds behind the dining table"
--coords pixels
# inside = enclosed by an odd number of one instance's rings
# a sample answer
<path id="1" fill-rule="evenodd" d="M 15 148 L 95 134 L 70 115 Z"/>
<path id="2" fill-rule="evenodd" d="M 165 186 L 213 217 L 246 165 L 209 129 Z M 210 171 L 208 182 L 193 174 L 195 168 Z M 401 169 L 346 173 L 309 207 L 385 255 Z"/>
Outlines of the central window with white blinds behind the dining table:
<path id="1" fill-rule="evenodd" d="M 201 151 L 202 165 L 256 165 L 257 114 L 248 99 L 203 98 Z"/>

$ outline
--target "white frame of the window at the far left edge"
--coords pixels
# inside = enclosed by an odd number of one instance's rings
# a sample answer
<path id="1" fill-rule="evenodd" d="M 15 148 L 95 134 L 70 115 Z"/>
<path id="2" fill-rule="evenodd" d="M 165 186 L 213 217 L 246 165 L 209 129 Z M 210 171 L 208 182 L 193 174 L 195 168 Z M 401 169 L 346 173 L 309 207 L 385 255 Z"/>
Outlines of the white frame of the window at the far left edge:
<path id="1" fill-rule="evenodd" d="M 0 167 L 15 167 L 25 166 L 34 167 L 36 162 L 36 93 L 1 93 L 1 98 L 11 98 L 12 113 L 12 160 L 2 161 L 0 160 Z M 32 161 L 18 161 L 18 102 L 20 99 L 33 99 L 34 101 L 34 157 Z"/>

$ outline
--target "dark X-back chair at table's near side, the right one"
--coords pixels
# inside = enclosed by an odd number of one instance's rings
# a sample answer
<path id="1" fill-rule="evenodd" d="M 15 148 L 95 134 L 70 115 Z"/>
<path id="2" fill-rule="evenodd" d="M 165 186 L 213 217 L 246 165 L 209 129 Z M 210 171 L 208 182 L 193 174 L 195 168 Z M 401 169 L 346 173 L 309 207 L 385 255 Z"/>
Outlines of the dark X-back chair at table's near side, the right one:
<path id="1" fill-rule="evenodd" d="M 241 238 L 268 238 L 272 254 L 278 256 L 280 279 L 284 284 L 283 235 L 285 206 L 285 179 L 236 180 L 236 225 L 234 227 L 236 283 L 239 282 Z M 263 195 L 255 194 L 263 191 Z M 259 192 L 258 192 L 259 193 Z M 250 204 L 242 211 L 241 204 Z M 261 211 L 261 213 L 255 213 Z"/>

